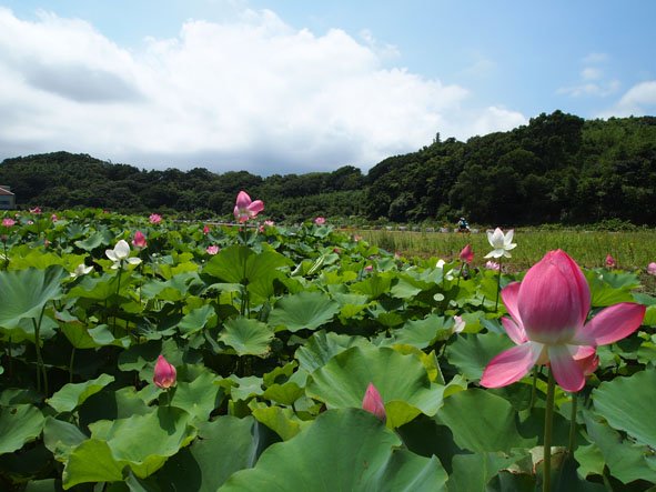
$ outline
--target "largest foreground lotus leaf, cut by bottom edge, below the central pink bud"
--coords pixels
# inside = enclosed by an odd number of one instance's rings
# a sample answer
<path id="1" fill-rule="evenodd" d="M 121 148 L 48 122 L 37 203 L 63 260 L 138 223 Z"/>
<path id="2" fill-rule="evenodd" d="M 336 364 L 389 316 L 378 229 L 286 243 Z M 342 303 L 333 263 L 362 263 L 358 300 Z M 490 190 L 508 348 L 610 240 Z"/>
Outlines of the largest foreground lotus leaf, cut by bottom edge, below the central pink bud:
<path id="1" fill-rule="evenodd" d="M 269 448 L 255 468 L 233 474 L 222 492 L 441 491 L 437 458 L 401 450 L 400 439 L 357 409 L 331 410 L 290 441 Z"/>

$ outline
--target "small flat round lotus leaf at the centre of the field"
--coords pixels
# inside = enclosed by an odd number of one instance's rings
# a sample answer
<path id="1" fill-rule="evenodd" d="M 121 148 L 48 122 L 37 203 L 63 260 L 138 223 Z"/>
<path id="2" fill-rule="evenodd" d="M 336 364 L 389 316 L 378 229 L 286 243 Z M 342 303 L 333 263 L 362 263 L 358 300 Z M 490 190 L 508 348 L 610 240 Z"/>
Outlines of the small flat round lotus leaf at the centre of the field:
<path id="1" fill-rule="evenodd" d="M 299 292 L 280 299 L 269 315 L 269 324 L 295 332 L 316 330 L 340 312 L 340 304 L 322 292 Z"/>

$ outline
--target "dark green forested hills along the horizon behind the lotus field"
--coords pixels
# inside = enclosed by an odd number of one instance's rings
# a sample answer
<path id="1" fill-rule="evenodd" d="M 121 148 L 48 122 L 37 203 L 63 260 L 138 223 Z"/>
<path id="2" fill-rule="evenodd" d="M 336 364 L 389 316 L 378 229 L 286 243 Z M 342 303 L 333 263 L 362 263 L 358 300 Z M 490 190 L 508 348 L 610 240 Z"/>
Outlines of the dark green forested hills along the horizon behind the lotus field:
<path id="1" fill-rule="evenodd" d="M 435 141 L 385 159 L 366 175 L 333 172 L 215 174 L 139 170 L 85 154 L 7 159 L 0 184 L 19 205 L 102 207 L 129 212 L 176 210 L 229 215 L 241 189 L 264 200 L 273 220 L 360 215 L 396 222 L 485 224 L 591 223 L 620 219 L 656 224 L 656 118 L 583 120 L 556 111 L 508 132 Z"/>

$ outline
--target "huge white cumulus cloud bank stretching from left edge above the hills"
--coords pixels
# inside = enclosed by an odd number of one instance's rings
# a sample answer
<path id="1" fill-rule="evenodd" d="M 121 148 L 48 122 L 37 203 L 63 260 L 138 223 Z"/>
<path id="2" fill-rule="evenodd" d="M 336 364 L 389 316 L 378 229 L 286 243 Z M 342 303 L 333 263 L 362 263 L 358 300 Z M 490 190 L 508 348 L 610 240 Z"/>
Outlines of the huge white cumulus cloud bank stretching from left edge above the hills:
<path id="1" fill-rule="evenodd" d="M 189 20 L 122 48 L 79 19 L 0 8 L 0 149 L 69 150 L 144 167 L 306 172 L 525 123 L 403 68 L 371 32 L 294 29 L 269 10 Z"/>

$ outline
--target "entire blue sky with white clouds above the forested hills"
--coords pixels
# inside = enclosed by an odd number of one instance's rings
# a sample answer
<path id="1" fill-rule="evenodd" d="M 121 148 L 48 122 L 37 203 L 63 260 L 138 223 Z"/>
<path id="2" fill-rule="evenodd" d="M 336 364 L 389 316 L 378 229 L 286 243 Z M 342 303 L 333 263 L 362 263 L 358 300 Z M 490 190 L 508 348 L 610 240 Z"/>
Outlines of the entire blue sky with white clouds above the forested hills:
<path id="1" fill-rule="evenodd" d="M 656 113 L 656 2 L 0 0 L 0 159 L 363 170 L 442 138 Z"/>

